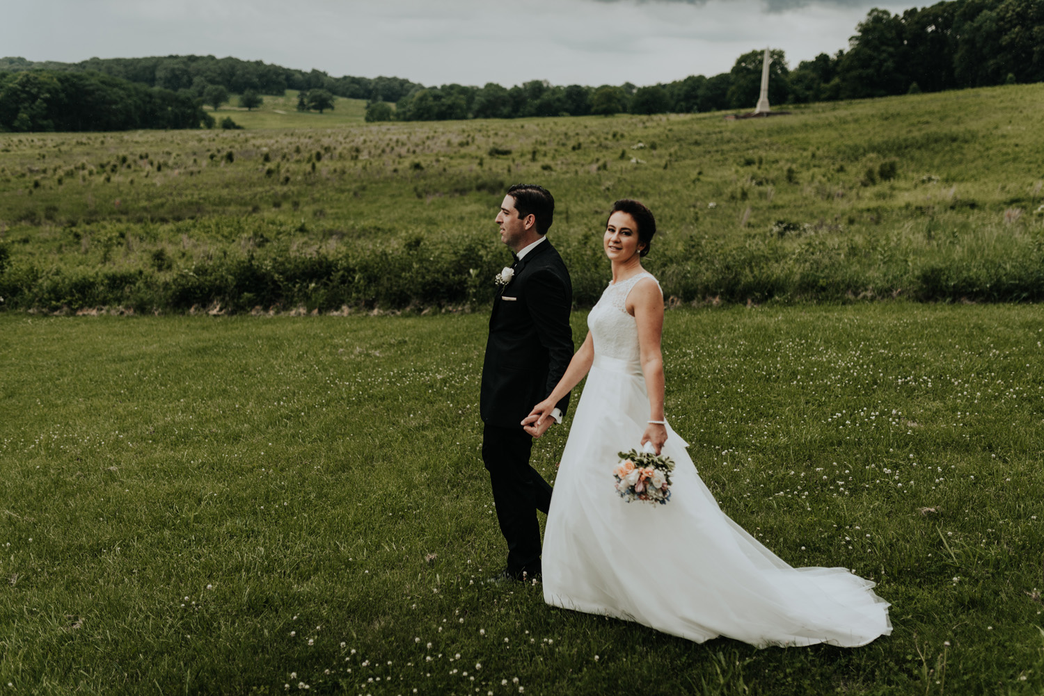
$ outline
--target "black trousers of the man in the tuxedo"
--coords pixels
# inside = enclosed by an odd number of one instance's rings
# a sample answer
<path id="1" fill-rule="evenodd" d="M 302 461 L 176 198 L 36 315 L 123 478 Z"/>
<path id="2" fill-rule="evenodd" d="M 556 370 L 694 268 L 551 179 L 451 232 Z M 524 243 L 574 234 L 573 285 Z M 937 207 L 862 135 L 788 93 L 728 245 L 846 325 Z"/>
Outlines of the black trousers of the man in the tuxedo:
<path id="1" fill-rule="evenodd" d="M 537 510 L 547 514 L 551 485 L 529 465 L 532 437 L 522 428 L 487 425 L 482 461 L 490 472 L 500 532 L 507 542 L 507 572 L 515 577 L 540 574 L 540 524 Z"/>

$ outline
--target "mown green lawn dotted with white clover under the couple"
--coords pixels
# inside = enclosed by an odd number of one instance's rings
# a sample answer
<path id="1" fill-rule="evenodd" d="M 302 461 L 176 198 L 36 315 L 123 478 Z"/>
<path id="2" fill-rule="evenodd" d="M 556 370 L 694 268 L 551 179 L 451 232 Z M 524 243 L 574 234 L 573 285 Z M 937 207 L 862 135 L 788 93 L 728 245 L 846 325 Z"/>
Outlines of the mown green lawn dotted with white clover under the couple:
<path id="1" fill-rule="evenodd" d="M 722 508 L 893 603 L 865 648 L 755 650 L 483 583 L 482 314 L 0 314 L 0 689 L 1039 694 L 1042 319 L 668 312 L 667 414 Z"/>

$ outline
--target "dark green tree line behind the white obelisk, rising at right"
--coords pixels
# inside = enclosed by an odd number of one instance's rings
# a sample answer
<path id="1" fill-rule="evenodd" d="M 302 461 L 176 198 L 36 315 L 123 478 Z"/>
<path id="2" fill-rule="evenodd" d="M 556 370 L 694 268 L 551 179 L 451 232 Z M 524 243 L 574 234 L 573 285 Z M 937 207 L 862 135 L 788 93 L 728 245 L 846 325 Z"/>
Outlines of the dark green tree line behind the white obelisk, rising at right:
<path id="1" fill-rule="evenodd" d="M 949 0 L 893 15 L 872 9 L 848 50 L 821 53 L 789 70 L 770 51 L 773 104 L 882 97 L 1044 80 L 1044 2 Z M 413 87 L 395 113 L 377 104 L 369 120 L 442 120 L 691 113 L 752 110 L 761 88 L 762 51 L 744 53 L 727 73 L 692 75 L 649 87 L 551 86 L 533 80 L 505 89 L 444 85 Z"/>

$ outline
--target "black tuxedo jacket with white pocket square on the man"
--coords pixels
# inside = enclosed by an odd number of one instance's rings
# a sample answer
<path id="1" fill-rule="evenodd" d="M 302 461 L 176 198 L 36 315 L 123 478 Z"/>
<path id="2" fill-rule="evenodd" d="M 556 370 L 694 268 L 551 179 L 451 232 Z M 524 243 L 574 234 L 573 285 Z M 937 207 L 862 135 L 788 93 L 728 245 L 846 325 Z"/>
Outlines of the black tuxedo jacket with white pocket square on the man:
<path id="1" fill-rule="evenodd" d="M 566 264 L 550 241 L 541 242 L 493 303 L 479 408 L 487 425 L 520 428 L 562 379 L 573 357 L 572 305 Z M 569 394 L 556 406 L 565 414 Z"/>

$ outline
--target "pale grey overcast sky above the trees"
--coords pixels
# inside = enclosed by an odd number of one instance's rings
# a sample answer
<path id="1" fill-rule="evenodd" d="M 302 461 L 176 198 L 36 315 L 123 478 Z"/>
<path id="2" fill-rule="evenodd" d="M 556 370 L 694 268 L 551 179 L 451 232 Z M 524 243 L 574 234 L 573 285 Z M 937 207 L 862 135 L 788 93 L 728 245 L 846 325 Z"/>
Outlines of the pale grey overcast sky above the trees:
<path id="1" fill-rule="evenodd" d="M 651 85 L 770 46 L 790 67 L 848 45 L 873 0 L 26 0 L 0 55 L 213 54 L 425 85 Z M 922 3 L 923 4 L 923 3 Z"/>

